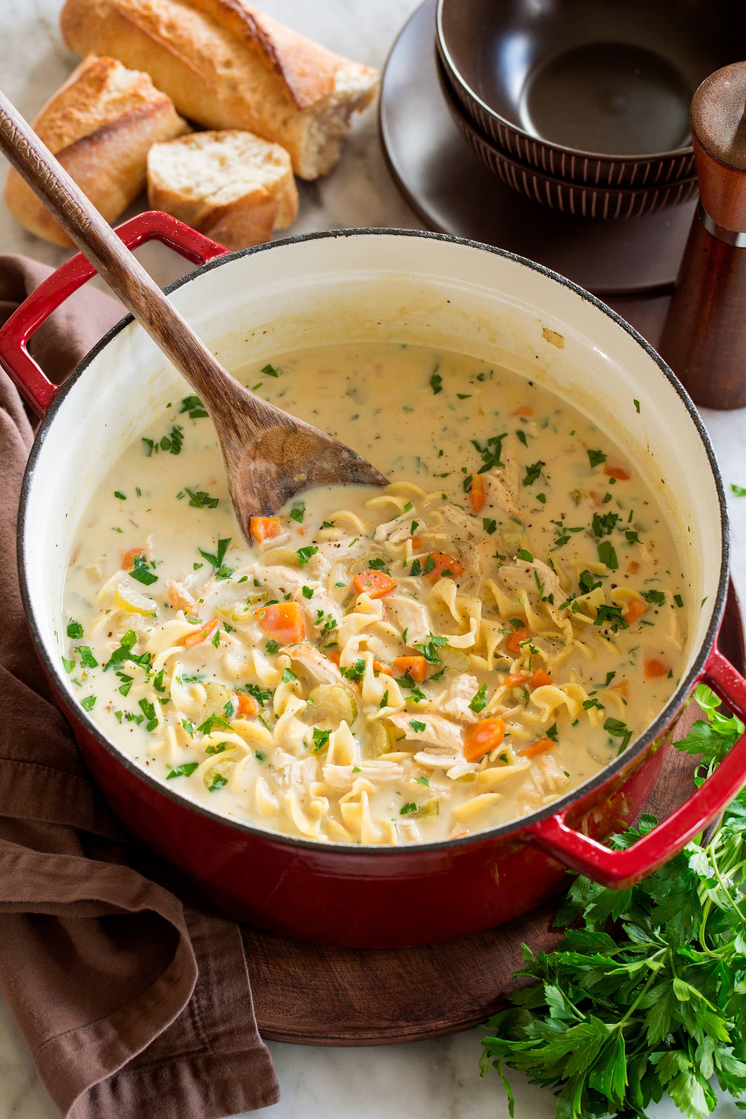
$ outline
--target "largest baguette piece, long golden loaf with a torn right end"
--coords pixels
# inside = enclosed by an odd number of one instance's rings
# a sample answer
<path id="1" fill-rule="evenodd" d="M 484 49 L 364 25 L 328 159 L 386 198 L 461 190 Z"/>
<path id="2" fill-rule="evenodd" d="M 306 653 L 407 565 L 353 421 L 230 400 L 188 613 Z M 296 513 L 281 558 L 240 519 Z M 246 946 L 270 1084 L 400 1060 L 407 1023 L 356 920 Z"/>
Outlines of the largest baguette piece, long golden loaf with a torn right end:
<path id="1" fill-rule="evenodd" d="M 66 0 L 65 43 L 147 70 L 180 113 L 282 144 L 303 179 L 338 161 L 377 72 L 311 43 L 245 0 Z"/>

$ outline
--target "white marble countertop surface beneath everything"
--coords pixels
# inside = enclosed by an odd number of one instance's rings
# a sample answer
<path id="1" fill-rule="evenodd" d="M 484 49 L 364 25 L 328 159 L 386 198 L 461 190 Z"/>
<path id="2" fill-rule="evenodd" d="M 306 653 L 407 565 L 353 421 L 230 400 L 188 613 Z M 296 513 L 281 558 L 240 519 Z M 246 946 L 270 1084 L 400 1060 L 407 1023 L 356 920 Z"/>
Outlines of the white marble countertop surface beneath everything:
<path id="1" fill-rule="evenodd" d="M 74 58 L 57 30 L 62 0 L 0 0 L 0 84 L 28 116 L 67 76 Z M 342 54 L 375 66 L 417 0 L 264 0 L 271 13 L 315 36 Z M 1 160 L 0 160 L 1 162 Z M 302 186 L 301 214 L 293 232 L 339 226 L 418 227 L 394 187 L 380 154 L 375 112 L 356 126 L 341 166 L 319 184 Z M 19 252 L 58 264 L 65 253 L 26 234 L 0 205 L 0 251 Z M 177 257 L 149 246 L 142 260 L 159 283 L 183 269 Z M 705 421 L 720 460 L 726 487 L 746 486 L 743 412 L 707 412 Z M 682 469 L 686 469 L 682 463 Z M 729 492 L 734 573 L 746 591 L 746 498 Z M 489 981 L 489 977 L 485 977 Z M 385 1049 L 308 1049 L 272 1044 L 282 1100 L 267 1119 L 503 1119 L 508 1109 L 497 1076 L 480 1080 L 479 1033 Z M 550 1119 L 549 1092 L 521 1084 L 518 1119 Z M 651 1109 L 654 1119 L 673 1119 L 676 1109 Z M 723 1101 L 718 1119 L 735 1119 Z M 55 1110 L 7 1008 L 0 1003 L 0 1119 L 55 1119 Z M 145 1119 L 145 1117 L 143 1117 Z M 185 1119 L 199 1119 L 198 1116 Z"/>

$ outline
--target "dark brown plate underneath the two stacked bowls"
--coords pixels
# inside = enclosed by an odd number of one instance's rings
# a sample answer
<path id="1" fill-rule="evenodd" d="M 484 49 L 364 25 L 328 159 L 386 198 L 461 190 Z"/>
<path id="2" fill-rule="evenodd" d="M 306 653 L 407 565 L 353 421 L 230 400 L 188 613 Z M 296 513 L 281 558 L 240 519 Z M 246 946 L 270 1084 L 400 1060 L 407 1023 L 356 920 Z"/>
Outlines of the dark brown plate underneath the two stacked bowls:
<path id="1" fill-rule="evenodd" d="M 495 179 L 460 135 L 435 67 L 435 0 L 403 28 L 379 105 L 394 180 L 432 229 L 528 256 L 598 295 L 670 291 L 696 203 L 603 222 L 558 214 Z"/>

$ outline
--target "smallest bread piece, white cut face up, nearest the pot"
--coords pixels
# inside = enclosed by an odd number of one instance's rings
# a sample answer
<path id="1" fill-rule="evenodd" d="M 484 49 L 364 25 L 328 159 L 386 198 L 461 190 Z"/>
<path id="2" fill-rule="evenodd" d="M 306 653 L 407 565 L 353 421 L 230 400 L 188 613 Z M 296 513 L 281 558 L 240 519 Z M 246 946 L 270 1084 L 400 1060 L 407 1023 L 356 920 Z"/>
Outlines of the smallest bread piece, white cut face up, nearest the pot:
<path id="1" fill-rule="evenodd" d="M 148 200 L 226 248 L 268 241 L 298 215 L 290 156 L 253 132 L 195 132 L 148 152 Z"/>

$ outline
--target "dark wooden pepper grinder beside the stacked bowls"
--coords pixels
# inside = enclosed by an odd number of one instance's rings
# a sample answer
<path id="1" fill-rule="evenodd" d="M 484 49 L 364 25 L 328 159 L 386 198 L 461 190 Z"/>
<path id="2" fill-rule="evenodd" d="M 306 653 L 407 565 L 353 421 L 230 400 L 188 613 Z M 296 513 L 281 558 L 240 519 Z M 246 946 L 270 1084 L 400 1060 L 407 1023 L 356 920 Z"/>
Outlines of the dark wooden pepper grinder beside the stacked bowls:
<path id="1" fill-rule="evenodd" d="M 660 352 L 696 404 L 746 405 L 746 63 L 706 78 L 691 103 L 700 204 Z"/>

